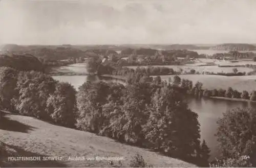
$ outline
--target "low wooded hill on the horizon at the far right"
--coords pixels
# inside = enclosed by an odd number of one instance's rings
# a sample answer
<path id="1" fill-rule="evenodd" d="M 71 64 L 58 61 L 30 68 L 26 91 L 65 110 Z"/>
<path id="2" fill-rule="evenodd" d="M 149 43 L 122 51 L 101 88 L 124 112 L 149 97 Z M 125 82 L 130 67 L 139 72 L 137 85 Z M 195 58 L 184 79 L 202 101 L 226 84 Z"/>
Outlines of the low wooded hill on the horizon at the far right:
<path id="1" fill-rule="evenodd" d="M 210 47 L 210 50 L 225 50 L 225 51 L 254 51 L 256 46 L 252 44 L 226 43 Z"/>

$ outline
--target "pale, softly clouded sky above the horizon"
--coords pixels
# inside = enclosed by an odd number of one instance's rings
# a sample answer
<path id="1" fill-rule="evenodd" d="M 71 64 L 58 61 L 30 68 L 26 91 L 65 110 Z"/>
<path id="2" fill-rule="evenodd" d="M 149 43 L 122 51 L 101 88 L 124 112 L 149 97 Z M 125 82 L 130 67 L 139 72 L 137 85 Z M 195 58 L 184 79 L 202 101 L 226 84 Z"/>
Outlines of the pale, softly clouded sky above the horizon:
<path id="1" fill-rule="evenodd" d="M 256 1 L 0 0 L 0 43 L 256 43 Z"/>

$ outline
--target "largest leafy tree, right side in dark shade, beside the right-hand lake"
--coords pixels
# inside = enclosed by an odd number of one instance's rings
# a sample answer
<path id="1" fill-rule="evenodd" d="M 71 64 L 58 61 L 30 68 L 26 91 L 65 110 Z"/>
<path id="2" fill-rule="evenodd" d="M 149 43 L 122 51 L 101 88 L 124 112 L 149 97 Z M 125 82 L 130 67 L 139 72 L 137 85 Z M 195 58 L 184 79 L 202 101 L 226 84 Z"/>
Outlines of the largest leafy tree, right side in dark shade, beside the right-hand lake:
<path id="1" fill-rule="evenodd" d="M 182 100 L 178 90 L 168 86 L 161 88 L 154 95 L 144 129 L 151 148 L 173 157 L 190 159 L 195 150 L 200 149 L 198 115 Z"/>

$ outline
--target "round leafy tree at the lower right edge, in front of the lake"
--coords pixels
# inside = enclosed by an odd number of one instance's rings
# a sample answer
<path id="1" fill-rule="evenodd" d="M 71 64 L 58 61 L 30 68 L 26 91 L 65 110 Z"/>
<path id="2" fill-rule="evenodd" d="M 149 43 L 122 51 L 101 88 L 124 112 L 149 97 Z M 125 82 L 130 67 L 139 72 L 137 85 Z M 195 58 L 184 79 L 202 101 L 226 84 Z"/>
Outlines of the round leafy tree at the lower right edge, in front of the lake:
<path id="1" fill-rule="evenodd" d="M 217 140 L 224 158 L 256 157 L 256 111 L 233 109 L 217 122 Z"/>

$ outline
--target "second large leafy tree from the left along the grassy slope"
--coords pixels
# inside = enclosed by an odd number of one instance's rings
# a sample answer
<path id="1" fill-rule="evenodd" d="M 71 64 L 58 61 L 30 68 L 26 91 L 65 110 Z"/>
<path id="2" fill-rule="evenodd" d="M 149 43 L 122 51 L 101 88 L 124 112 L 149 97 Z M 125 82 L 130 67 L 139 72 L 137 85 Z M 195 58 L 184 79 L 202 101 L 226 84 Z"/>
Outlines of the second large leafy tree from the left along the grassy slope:
<path id="1" fill-rule="evenodd" d="M 35 71 L 20 72 L 18 75 L 18 97 L 14 98 L 15 108 L 22 114 L 40 119 L 49 119 L 47 99 L 55 90 L 56 81 Z"/>

